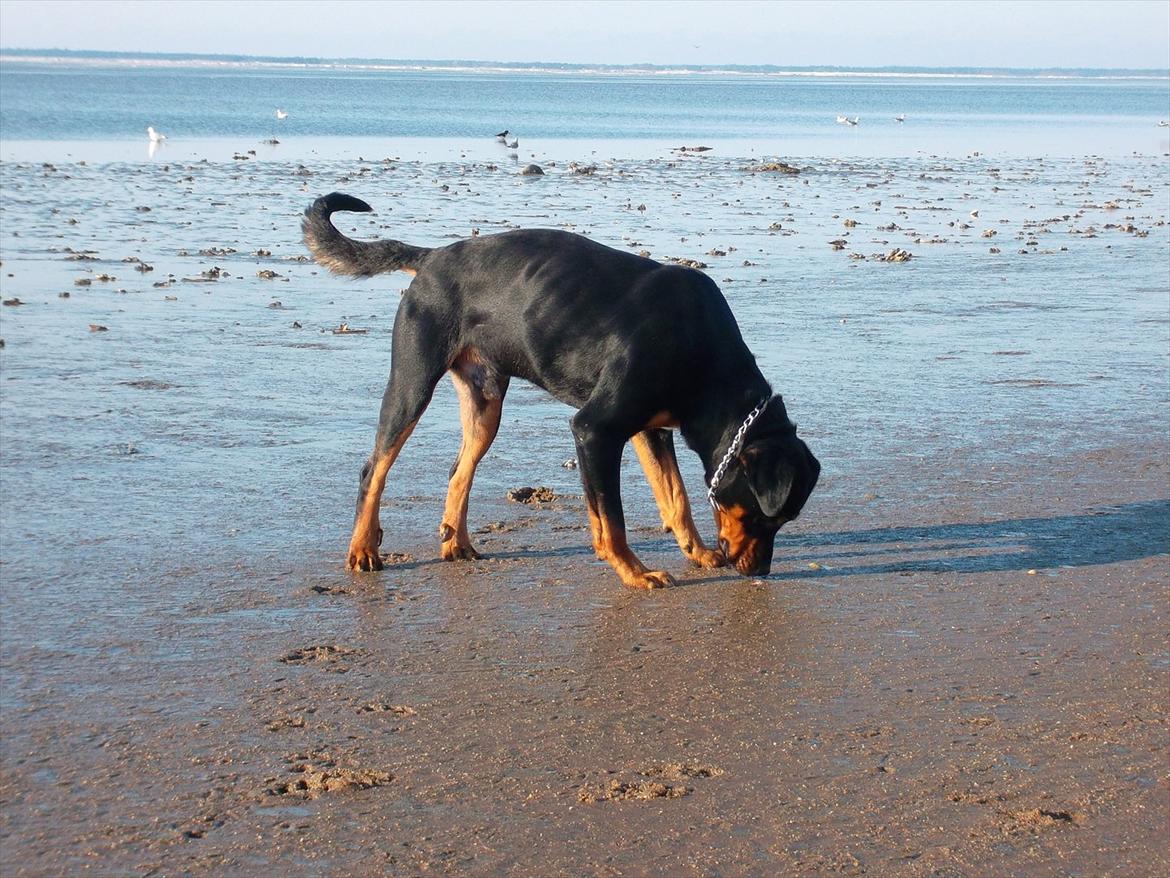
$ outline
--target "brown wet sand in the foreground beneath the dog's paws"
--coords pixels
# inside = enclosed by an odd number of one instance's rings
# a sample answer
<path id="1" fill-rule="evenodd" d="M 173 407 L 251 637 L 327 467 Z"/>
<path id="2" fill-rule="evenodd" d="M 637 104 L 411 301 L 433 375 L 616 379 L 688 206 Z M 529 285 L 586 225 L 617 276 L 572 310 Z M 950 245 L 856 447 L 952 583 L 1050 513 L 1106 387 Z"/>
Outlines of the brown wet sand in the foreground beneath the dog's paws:
<path id="1" fill-rule="evenodd" d="M 1163 873 L 1165 458 L 1021 462 L 1004 517 L 821 509 L 775 581 L 626 591 L 566 501 L 483 562 L 192 571 L 101 661 L 9 636 L 61 679 L 5 711 L 6 872 Z"/>

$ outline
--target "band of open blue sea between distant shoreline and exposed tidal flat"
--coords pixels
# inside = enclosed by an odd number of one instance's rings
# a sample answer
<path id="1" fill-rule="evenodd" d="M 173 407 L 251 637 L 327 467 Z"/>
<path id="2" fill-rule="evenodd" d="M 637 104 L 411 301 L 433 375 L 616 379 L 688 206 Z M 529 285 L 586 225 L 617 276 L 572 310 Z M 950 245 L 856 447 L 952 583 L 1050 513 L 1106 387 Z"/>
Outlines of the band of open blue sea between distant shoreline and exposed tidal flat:
<path id="1" fill-rule="evenodd" d="M 600 68 L 0 50 L 5 158 L 84 142 L 392 144 L 422 157 L 508 129 L 524 149 L 652 144 L 794 156 L 1126 155 L 1168 143 L 1165 70 Z M 276 119 L 275 110 L 287 118 Z M 856 119 L 840 124 L 838 117 Z M 895 121 L 904 116 L 904 122 Z M 367 146 L 369 144 L 369 146 Z M 97 150 L 96 152 L 94 150 Z"/>

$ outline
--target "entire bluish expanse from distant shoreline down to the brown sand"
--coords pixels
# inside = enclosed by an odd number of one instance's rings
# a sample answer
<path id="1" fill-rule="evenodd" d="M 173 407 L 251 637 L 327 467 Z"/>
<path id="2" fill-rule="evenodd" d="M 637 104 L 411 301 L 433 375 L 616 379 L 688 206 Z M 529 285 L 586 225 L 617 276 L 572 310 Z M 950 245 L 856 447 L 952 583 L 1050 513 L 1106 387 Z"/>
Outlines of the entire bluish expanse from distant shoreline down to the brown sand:
<path id="1" fill-rule="evenodd" d="M 359 238 L 555 227 L 700 265 L 824 465 L 782 543 L 887 496 L 996 517 L 1007 458 L 1165 448 L 1168 117 L 1164 70 L 0 52 L 8 624 L 137 612 L 152 571 L 342 563 L 410 279 L 308 261 L 301 212 L 331 191 L 374 207 L 337 218 Z M 514 384 L 473 530 L 517 514 L 509 488 L 579 494 L 571 414 Z M 459 443 L 445 382 L 384 550 L 438 554 Z M 631 527 L 656 526 L 626 467 Z"/>

